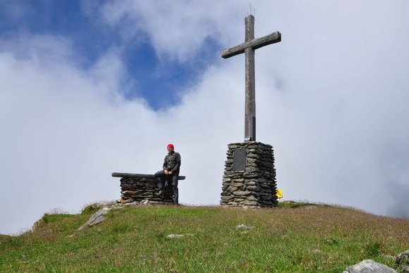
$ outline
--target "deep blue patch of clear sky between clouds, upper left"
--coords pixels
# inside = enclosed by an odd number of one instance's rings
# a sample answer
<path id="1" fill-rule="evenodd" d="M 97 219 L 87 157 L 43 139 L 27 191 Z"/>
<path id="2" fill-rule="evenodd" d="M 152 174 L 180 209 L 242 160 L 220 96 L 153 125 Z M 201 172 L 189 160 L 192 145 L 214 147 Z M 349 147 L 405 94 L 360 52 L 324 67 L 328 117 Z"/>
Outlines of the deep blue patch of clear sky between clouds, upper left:
<path id="1" fill-rule="evenodd" d="M 1 5 L 4 20 L 0 30 L 4 35 L 14 32 L 61 35 L 72 42 L 79 63 L 85 67 L 107 50 L 120 49 L 128 72 L 125 97 L 130 100 L 143 97 L 154 110 L 180 102 L 178 90 L 193 85 L 207 66 L 220 61 L 215 52 L 219 53 L 221 45 L 211 38 L 189 59 L 180 61 L 169 56 L 159 59 L 147 33 L 141 31 L 138 39 L 124 39 L 115 26 L 87 15 L 86 4 L 81 1 L 4 1 Z"/>

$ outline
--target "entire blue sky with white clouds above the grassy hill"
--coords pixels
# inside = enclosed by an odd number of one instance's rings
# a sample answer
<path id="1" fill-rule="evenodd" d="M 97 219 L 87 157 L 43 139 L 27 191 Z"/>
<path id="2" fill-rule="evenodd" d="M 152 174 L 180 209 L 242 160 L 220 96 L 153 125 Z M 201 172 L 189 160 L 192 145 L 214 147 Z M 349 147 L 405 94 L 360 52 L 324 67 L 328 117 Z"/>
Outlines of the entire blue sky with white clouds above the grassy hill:
<path id="1" fill-rule="evenodd" d="M 409 217 L 409 2 L 251 1 L 257 141 L 285 200 Z M 120 197 L 111 172 L 182 155 L 180 201 L 217 205 L 244 138 L 249 1 L 0 1 L 0 233 Z"/>

